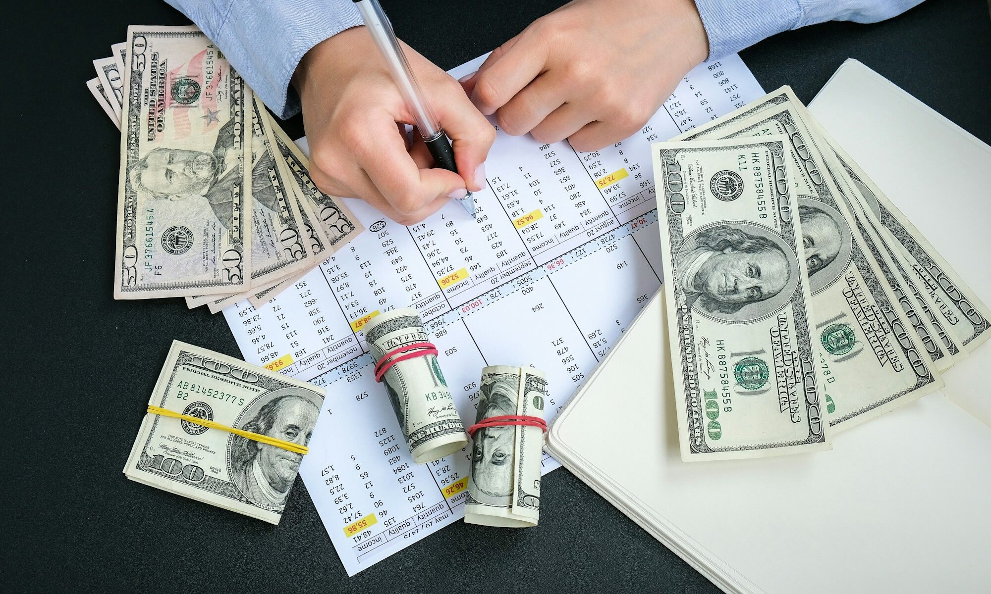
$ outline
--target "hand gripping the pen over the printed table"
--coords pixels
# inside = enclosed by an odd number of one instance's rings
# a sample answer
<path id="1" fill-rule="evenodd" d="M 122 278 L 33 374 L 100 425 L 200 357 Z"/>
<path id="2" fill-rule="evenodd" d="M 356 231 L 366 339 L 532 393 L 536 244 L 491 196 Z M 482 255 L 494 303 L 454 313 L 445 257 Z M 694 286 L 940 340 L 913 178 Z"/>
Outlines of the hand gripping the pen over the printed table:
<path id="1" fill-rule="evenodd" d="M 466 188 L 482 189 L 495 129 L 454 78 L 405 44 L 402 49 L 452 141 L 461 175 L 431 168 L 433 158 L 418 134 L 407 146 L 402 123 L 414 124 L 412 114 L 364 27 L 310 49 L 292 82 L 302 102 L 317 187 L 361 198 L 389 219 L 413 225 L 449 198 L 463 197 Z"/>

